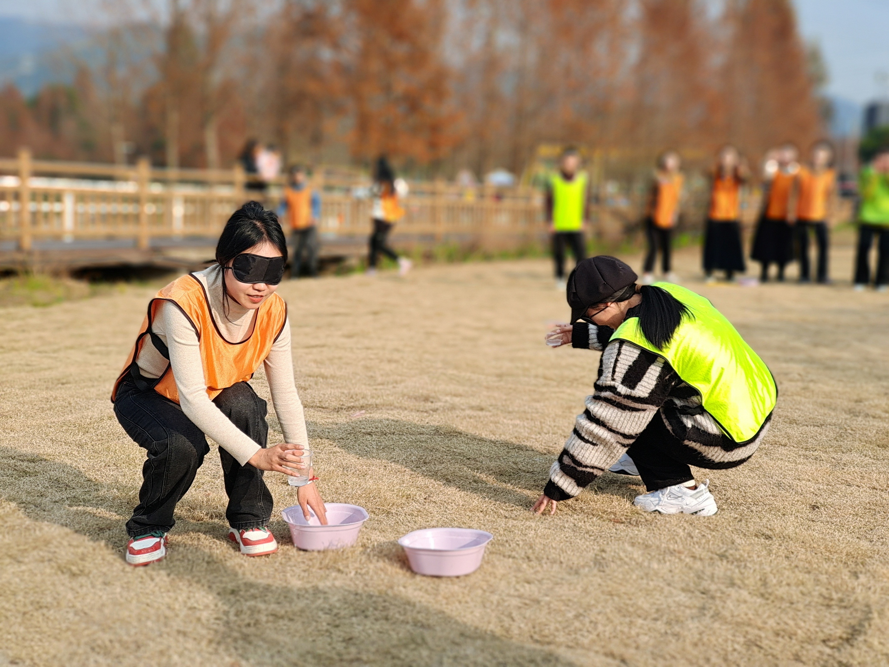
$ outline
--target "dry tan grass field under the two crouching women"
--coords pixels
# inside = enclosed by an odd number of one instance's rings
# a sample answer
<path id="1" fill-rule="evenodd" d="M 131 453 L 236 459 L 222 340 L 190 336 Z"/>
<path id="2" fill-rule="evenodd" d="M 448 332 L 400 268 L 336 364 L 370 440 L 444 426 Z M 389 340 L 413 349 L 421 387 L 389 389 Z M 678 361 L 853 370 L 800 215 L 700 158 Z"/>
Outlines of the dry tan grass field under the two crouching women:
<path id="1" fill-rule="evenodd" d="M 889 663 L 889 295 L 853 293 L 850 262 L 831 286 L 706 286 L 680 254 L 781 391 L 750 462 L 700 471 L 712 518 L 645 515 L 609 473 L 531 513 L 598 360 L 543 344 L 567 317 L 548 261 L 285 284 L 321 489 L 370 512 L 358 544 L 295 550 L 268 474 L 281 550 L 240 556 L 214 449 L 138 569 L 143 454 L 108 390 L 156 287 L 0 310 L 0 665 Z M 475 574 L 425 578 L 396 539 L 427 526 L 495 539 Z"/>

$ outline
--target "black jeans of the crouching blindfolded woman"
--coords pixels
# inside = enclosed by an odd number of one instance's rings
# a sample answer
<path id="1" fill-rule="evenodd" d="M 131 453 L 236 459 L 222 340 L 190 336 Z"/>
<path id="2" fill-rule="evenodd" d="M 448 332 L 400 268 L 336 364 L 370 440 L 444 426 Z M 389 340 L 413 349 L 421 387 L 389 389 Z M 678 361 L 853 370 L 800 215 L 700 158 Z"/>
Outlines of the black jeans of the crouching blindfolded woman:
<path id="1" fill-rule="evenodd" d="M 249 384 L 238 382 L 222 390 L 213 403 L 253 442 L 266 446 L 266 402 Z M 126 522 L 126 532 L 131 537 L 156 530 L 167 532 L 176 523 L 176 503 L 195 481 L 195 473 L 210 451 L 207 438 L 178 403 L 155 390 L 141 391 L 132 382 L 124 382 L 118 389 L 114 411 L 127 435 L 148 454 L 142 466 L 139 504 Z M 240 530 L 268 524 L 272 494 L 262 470 L 250 463 L 242 466 L 221 447 L 220 460 L 228 494 L 228 525 Z"/>

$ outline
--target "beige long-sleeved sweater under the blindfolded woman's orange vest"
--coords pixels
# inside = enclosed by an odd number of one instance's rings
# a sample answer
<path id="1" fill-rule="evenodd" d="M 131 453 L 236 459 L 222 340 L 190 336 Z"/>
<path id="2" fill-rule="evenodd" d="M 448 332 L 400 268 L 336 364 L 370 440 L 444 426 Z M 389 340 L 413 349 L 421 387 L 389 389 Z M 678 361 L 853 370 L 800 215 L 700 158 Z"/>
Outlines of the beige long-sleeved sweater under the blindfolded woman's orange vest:
<path id="1" fill-rule="evenodd" d="M 225 314 L 222 300 L 222 271 L 213 265 L 195 276 L 204 284 L 210 296 L 212 317 L 220 332 L 228 341 L 239 342 L 252 332 L 255 310 L 245 309 L 233 299 L 227 299 Z M 228 316 L 228 317 L 227 317 Z M 194 328 L 180 309 L 163 303 L 152 325 L 154 332 L 170 350 L 170 365 L 182 412 L 195 423 L 197 428 L 216 441 L 220 447 L 244 465 L 260 448 L 251 438 L 228 420 L 207 396 L 204 382 L 204 367 Z M 308 445 L 306 421 L 302 412 L 300 395 L 293 380 L 293 360 L 290 349 L 290 318 L 284 323 L 284 330 L 272 345 L 264 366 L 275 406 L 278 422 L 284 431 L 284 442 L 293 445 Z M 155 350 L 148 339 L 136 359 L 140 373 L 148 378 L 160 377 L 167 367 L 167 360 Z M 274 443 L 272 443 L 274 444 Z"/>

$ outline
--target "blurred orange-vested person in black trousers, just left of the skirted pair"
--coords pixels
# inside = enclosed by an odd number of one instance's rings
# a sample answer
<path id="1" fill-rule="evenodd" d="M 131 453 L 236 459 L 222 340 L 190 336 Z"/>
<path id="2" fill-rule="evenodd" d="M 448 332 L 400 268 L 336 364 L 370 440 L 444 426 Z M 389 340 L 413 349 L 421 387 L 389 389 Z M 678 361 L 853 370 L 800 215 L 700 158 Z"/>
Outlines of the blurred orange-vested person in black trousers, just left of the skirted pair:
<path id="1" fill-rule="evenodd" d="M 675 150 L 665 150 L 658 157 L 645 218 L 645 239 L 648 241 L 648 253 L 645 255 L 643 285 L 651 285 L 654 282 L 654 263 L 657 261 L 659 247 L 664 280 L 669 283 L 677 281 L 676 274 L 670 269 L 670 245 L 672 244 L 673 228 L 676 227 L 679 219 L 679 205 L 682 199 L 684 179 L 682 173 L 679 172 L 681 165 L 682 158 Z"/>

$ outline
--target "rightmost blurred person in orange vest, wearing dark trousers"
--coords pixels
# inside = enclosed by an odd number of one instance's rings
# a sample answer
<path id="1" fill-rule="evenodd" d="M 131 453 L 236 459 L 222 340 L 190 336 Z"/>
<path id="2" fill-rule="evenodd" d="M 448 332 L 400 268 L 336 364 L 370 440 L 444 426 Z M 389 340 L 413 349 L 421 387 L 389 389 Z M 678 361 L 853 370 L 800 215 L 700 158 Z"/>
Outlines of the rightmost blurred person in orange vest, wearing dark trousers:
<path id="1" fill-rule="evenodd" d="M 799 243 L 799 282 L 812 281 L 809 261 L 809 231 L 818 244 L 816 280 L 829 282 L 828 221 L 835 203 L 837 173 L 831 168 L 834 149 L 828 141 L 812 147 L 812 162 L 800 167 L 797 177 L 797 241 Z"/>

